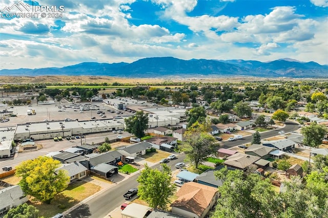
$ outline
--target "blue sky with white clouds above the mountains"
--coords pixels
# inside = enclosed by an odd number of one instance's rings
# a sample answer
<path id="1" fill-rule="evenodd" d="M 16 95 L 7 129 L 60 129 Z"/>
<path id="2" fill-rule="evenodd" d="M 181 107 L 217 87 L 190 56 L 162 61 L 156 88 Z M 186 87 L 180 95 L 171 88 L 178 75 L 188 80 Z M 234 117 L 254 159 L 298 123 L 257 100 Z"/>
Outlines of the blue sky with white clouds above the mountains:
<path id="1" fill-rule="evenodd" d="M 328 0 L 22 1 L 34 18 L 9 16 L 15 3 L 0 0 L 0 69 L 167 56 L 328 64 Z M 65 10 L 42 18 L 36 6 Z"/>

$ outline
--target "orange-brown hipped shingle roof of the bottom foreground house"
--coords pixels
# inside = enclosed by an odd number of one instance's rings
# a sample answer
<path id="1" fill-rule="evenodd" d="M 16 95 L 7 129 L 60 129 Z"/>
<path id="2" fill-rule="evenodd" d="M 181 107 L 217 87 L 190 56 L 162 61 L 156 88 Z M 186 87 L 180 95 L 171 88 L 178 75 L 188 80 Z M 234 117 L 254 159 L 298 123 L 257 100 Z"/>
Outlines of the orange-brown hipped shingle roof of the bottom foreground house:
<path id="1" fill-rule="evenodd" d="M 210 205 L 217 191 L 217 188 L 211 186 L 195 182 L 185 183 L 176 193 L 178 199 L 171 207 L 178 207 L 200 216 Z"/>

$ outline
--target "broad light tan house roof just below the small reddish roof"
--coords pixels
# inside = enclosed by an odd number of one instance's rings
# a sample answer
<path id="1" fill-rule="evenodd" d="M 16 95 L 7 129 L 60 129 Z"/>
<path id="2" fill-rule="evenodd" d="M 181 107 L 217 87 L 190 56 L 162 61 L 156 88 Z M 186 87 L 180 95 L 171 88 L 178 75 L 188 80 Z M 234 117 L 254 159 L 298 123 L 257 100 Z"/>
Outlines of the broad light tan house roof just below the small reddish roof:
<path id="1" fill-rule="evenodd" d="M 260 157 L 252 156 L 252 155 L 246 155 L 241 153 L 236 153 L 230 157 L 227 158 L 226 161 L 224 161 L 224 164 L 230 165 L 239 169 L 244 169 L 248 167 L 249 165 L 253 164 L 254 162 L 258 161 Z"/>

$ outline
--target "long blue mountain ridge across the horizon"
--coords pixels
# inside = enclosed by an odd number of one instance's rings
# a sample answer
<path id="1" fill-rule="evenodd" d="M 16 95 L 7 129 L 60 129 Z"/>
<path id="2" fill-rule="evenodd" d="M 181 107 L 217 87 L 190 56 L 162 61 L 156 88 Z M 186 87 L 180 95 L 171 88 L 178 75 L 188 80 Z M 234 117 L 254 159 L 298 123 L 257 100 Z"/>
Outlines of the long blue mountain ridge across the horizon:
<path id="1" fill-rule="evenodd" d="M 63 68 L 0 70 L 1 76 L 88 75 L 115 77 L 328 77 L 328 65 L 283 58 L 256 60 L 182 60 L 174 57 L 143 58 L 132 63 L 83 62 Z"/>

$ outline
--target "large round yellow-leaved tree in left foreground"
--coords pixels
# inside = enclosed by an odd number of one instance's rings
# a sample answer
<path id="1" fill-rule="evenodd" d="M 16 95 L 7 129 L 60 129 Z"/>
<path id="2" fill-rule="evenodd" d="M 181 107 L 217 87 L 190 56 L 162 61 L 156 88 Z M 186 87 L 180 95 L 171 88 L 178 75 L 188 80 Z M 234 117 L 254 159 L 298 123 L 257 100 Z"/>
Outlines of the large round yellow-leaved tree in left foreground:
<path id="1" fill-rule="evenodd" d="M 18 184 L 24 193 L 32 195 L 39 201 L 50 203 L 70 181 L 67 171 L 56 171 L 59 166 L 59 161 L 40 156 L 20 163 L 16 167 L 15 175 L 22 177 Z"/>

